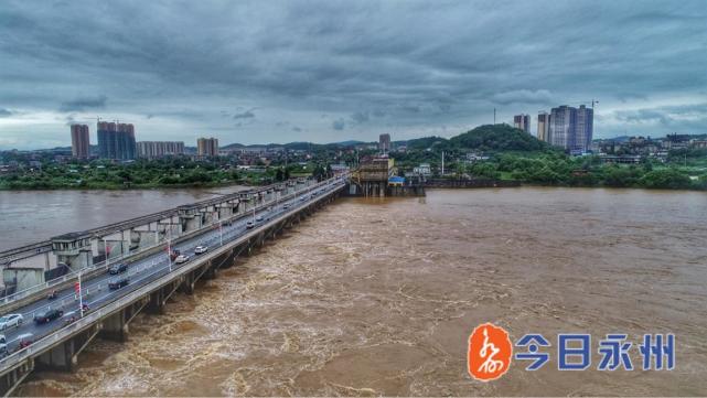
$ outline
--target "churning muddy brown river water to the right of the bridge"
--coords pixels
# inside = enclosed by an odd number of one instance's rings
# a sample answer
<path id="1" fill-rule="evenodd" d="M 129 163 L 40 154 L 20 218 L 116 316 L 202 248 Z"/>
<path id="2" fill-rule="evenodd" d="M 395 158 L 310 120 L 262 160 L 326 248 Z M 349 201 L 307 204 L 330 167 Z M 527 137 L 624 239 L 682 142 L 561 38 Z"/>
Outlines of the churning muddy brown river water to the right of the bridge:
<path id="1" fill-rule="evenodd" d="M 522 187 L 341 198 L 268 243 L 125 344 L 23 396 L 690 396 L 707 394 L 707 194 Z M 474 326 L 513 341 L 592 335 L 592 367 L 514 362 L 467 374 Z M 599 372 L 597 342 L 634 342 Z M 644 333 L 675 333 L 675 370 L 642 370 Z M 550 349 L 554 353 L 554 347 Z"/>

